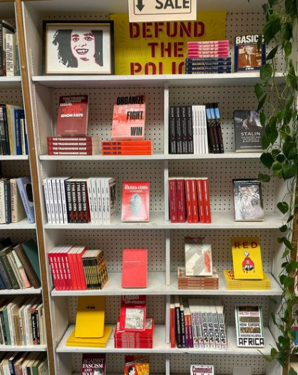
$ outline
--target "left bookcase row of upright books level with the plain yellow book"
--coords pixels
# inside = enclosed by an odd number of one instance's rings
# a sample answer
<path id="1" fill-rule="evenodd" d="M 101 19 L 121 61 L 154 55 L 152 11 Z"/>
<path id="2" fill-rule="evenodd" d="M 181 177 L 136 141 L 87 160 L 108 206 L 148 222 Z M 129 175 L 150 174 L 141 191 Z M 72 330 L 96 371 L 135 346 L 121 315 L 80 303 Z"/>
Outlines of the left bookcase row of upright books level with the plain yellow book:
<path id="1" fill-rule="evenodd" d="M 40 297 L 25 299 L 16 297 L 9 302 L 0 300 L 1 345 L 44 345 L 46 327 L 43 304 Z"/>

